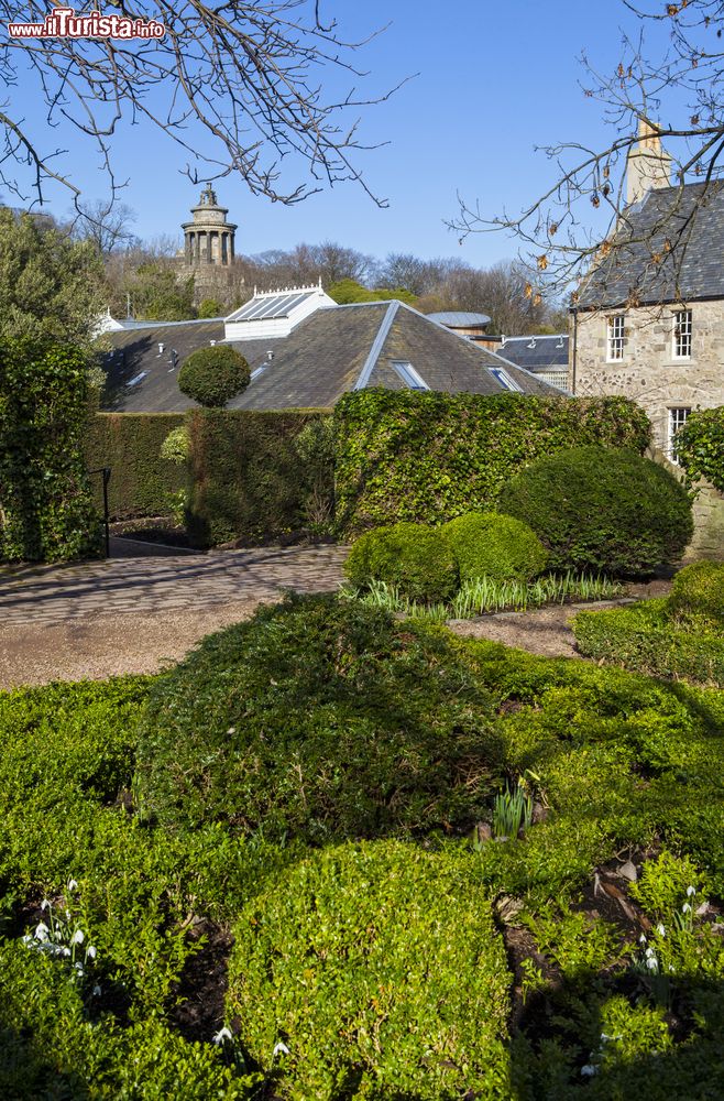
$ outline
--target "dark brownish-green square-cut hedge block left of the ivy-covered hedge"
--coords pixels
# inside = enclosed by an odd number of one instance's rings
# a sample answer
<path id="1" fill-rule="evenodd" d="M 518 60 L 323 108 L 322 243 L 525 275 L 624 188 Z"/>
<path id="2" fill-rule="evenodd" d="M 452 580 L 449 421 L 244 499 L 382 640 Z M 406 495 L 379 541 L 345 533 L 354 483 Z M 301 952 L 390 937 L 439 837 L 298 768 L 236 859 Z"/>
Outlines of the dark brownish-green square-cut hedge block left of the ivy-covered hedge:
<path id="1" fill-rule="evenodd" d="M 320 416 L 315 410 L 194 410 L 188 415 L 188 528 L 197 546 L 239 536 L 263 539 L 307 524 L 310 497 L 333 494 L 325 448 L 303 460 L 296 446 Z"/>

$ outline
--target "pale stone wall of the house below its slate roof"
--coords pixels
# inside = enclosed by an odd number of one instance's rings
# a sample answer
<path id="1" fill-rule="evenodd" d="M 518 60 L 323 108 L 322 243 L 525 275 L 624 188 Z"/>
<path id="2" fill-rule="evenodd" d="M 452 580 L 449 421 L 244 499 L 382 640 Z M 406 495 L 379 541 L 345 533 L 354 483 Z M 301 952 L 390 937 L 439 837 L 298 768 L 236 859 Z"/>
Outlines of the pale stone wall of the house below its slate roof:
<path id="1" fill-rule="evenodd" d="M 575 372 L 574 341 L 570 341 L 569 390 L 578 396 L 634 397 L 648 413 L 655 444 L 663 451 L 669 445 L 671 407 L 724 405 L 724 302 L 694 302 L 688 308 L 692 312 L 690 359 L 673 358 L 674 306 L 579 314 Z M 611 313 L 626 317 L 624 358 L 616 362 L 607 362 Z"/>

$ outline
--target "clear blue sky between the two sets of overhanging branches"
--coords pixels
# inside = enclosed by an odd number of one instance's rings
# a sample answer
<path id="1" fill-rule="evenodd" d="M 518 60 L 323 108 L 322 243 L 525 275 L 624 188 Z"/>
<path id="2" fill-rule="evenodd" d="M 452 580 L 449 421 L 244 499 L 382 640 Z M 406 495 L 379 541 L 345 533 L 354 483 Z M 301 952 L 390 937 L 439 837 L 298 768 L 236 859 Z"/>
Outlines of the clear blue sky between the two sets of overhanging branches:
<path id="1" fill-rule="evenodd" d="M 579 58 L 585 50 L 599 68 L 615 66 L 619 28 L 630 26 L 619 0 L 456 0 L 443 9 L 445 19 L 430 0 L 327 0 L 326 8 L 338 12 L 351 36 L 392 21 L 358 58 L 370 70 L 371 91 L 419 74 L 364 117 L 365 139 L 388 144 L 361 153 L 358 163 L 390 207 L 377 209 L 354 184 L 284 207 L 227 178 L 217 189 L 239 225 L 238 251 L 326 239 L 379 257 L 456 255 L 489 265 L 515 255 L 517 247 L 498 233 L 474 235 L 459 246 L 445 226 L 456 216 L 457 193 L 480 200 L 491 217 L 503 208 L 513 212 L 552 178 L 536 145 L 611 140 L 600 105 L 580 87 Z M 22 84 L 12 95 L 22 101 Z M 37 106 L 28 117 L 41 124 Z M 66 137 L 55 135 L 70 150 L 74 182 L 89 198 L 103 198 L 97 154 Z M 123 201 L 136 211 L 139 236 L 178 232 L 200 190 L 179 171 L 183 150 L 150 126 L 123 124 L 113 151 L 119 176 L 129 178 Z M 63 193 L 51 188 L 48 195 L 48 209 L 67 214 Z"/>

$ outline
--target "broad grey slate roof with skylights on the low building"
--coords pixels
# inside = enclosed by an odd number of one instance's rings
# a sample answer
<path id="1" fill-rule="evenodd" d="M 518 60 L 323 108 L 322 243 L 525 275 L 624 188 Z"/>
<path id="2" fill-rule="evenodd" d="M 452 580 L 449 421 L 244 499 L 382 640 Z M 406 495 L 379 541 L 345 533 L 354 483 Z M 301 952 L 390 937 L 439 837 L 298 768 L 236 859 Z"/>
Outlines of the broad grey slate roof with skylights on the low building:
<path id="1" fill-rule="evenodd" d="M 195 403 L 178 389 L 178 367 L 197 348 L 223 340 L 223 323 L 153 325 L 110 333 L 106 412 L 182 412 Z M 158 345 L 164 351 L 158 352 Z M 321 308 L 284 338 L 231 341 L 246 358 L 251 384 L 229 408 L 328 408 L 360 385 L 406 389 L 393 361 L 413 364 L 430 390 L 504 393 L 503 369 L 524 392 L 560 396 L 555 386 L 463 339 L 399 302 Z M 177 366 L 171 359 L 177 353 Z M 268 353 L 273 358 L 268 358 Z"/>

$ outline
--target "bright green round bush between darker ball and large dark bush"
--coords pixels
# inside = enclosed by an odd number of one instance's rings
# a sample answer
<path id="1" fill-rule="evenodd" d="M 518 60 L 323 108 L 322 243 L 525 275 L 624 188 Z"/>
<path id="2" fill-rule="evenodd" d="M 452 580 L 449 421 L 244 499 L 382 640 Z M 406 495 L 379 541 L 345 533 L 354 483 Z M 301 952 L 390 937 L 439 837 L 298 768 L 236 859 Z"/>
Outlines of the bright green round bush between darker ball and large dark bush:
<path id="1" fill-rule="evenodd" d="M 536 533 L 514 516 L 468 512 L 440 531 L 452 547 L 461 581 L 479 577 L 529 581 L 548 562 Z"/>

